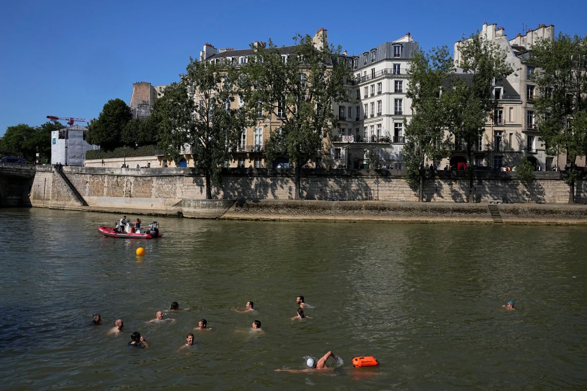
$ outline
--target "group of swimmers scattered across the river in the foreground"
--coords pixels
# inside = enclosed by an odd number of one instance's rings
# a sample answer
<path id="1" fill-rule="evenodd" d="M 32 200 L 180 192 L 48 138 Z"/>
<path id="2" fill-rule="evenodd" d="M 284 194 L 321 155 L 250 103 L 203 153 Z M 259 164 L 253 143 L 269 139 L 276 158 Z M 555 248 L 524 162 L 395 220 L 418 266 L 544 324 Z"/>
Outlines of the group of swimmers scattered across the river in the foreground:
<path id="1" fill-rule="evenodd" d="M 304 301 L 304 297 L 302 295 L 299 295 L 298 297 L 296 297 L 296 304 L 299 306 L 297 309 L 297 315 L 295 317 L 292 317 L 291 319 L 294 320 L 294 319 L 310 318 L 303 311 L 304 308 L 308 307 L 308 304 L 306 304 L 306 302 Z M 515 310 L 513 300 L 508 301 L 506 304 L 502 305 L 501 307 L 506 308 L 508 311 Z M 177 301 L 172 302 L 171 307 L 169 308 L 169 311 L 179 311 L 179 310 L 180 310 L 180 307 L 179 307 L 178 302 Z M 189 308 L 184 308 L 184 311 L 185 310 L 189 310 Z M 245 312 L 255 312 L 256 311 L 254 308 L 254 302 L 252 302 L 252 301 L 247 301 L 247 304 L 245 304 L 244 310 L 239 310 L 238 308 L 233 308 L 233 310 L 236 312 L 239 312 L 241 314 L 244 314 Z M 100 325 L 101 320 L 102 320 L 102 317 L 99 313 L 96 312 L 95 314 L 93 314 L 93 321 L 92 321 L 93 325 Z M 163 311 L 157 311 L 155 314 L 155 318 L 151 319 L 150 321 L 147 321 L 147 323 L 158 323 L 158 322 L 166 322 L 166 321 L 175 322 L 176 319 L 167 318 L 163 314 Z M 122 319 L 116 319 L 116 322 L 114 322 L 114 327 L 108 331 L 108 334 L 109 335 L 122 334 L 123 328 L 124 328 L 124 322 L 122 321 Z M 198 322 L 198 327 L 196 329 L 205 330 L 205 331 L 211 330 L 211 328 L 207 327 L 207 321 L 204 318 L 200 319 L 200 321 Z M 258 319 L 255 319 L 251 324 L 251 331 L 263 332 L 261 329 L 261 321 L 259 321 Z M 191 332 L 188 333 L 185 336 L 185 341 L 186 341 L 185 344 L 180 346 L 179 350 L 185 349 L 185 348 L 190 348 L 191 346 L 194 345 L 194 334 Z M 130 335 L 130 342 L 128 343 L 128 346 L 133 346 L 135 348 L 149 348 L 149 344 L 147 343 L 146 339 L 144 339 L 144 337 L 141 336 L 140 332 L 138 332 L 138 331 L 134 331 Z M 338 356 L 336 356 L 335 353 L 332 353 L 331 351 L 329 351 L 329 352 L 326 352 L 325 355 L 323 355 L 318 360 L 315 360 L 311 357 L 306 358 L 306 366 L 308 368 L 305 368 L 305 369 L 275 369 L 275 372 L 302 373 L 302 372 L 311 372 L 312 370 L 326 370 L 326 369 L 329 369 L 329 367 L 326 365 L 326 361 L 330 357 L 332 357 L 335 360 L 338 360 Z"/>

